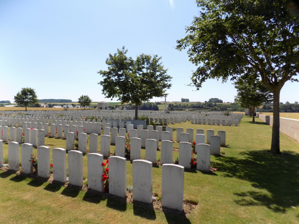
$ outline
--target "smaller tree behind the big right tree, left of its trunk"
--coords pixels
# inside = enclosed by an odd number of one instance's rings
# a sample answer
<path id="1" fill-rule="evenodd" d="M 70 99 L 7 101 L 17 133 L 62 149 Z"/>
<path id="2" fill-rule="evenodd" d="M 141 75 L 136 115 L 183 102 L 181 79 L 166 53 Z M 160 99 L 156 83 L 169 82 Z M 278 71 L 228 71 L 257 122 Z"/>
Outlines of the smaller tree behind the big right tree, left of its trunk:
<path id="1" fill-rule="evenodd" d="M 254 108 L 273 99 L 269 88 L 258 79 L 244 80 L 239 77 L 234 85 L 237 89 L 236 102 L 240 103 L 242 108 L 250 109 L 250 116 L 252 109 L 254 111 Z M 252 122 L 254 122 L 254 113 Z"/>

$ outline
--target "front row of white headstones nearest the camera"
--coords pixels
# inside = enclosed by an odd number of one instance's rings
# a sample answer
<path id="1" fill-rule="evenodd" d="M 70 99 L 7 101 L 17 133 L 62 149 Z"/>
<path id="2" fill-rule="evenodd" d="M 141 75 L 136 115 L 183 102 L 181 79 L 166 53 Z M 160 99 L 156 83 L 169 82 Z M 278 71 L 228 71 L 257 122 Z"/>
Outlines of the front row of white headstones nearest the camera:
<path id="1" fill-rule="evenodd" d="M 81 133 L 84 134 L 84 133 Z M 122 137 L 122 136 L 120 136 Z M 152 139 L 148 139 L 152 140 Z M 2 140 L 0 140 L 0 156 L 3 154 Z M 19 143 L 8 143 L 9 169 L 19 171 Z M 33 173 L 31 155 L 33 145 L 21 144 L 22 172 Z M 66 182 L 66 150 L 63 148 L 52 149 L 53 155 L 53 180 Z M 37 147 L 37 175 L 43 178 L 50 177 L 50 148 Z M 3 156 L 1 156 L 3 158 Z M 88 188 L 103 191 L 103 155 L 89 153 L 87 156 Z M 3 161 L 0 159 L 0 165 Z M 133 200 L 152 203 L 152 162 L 147 160 L 133 160 Z M 83 186 L 83 153 L 81 151 L 68 151 L 68 182 L 72 185 Z M 126 159 L 119 156 L 109 157 L 109 194 L 126 197 Z M 184 200 L 184 167 L 174 164 L 162 165 L 162 206 L 183 210 Z"/>

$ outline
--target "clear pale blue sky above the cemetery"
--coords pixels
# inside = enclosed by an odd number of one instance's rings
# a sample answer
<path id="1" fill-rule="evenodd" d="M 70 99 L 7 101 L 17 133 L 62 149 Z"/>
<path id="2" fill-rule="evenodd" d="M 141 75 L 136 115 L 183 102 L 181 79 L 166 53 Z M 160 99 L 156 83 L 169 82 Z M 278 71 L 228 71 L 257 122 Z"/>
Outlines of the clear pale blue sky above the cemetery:
<path id="1" fill-rule="evenodd" d="M 192 70 L 186 51 L 175 49 L 199 8 L 193 0 L 0 1 L 0 100 L 23 87 L 38 99 L 71 99 L 88 95 L 110 99 L 97 83 L 106 58 L 125 46 L 128 56 L 162 57 L 173 77 L 167 101 L 234 101 L 231 82 L 208 80 L 199 91 L 189 87 Z M 299 101 L 299 84 L 287 82 L 280 102 Z M 162 101 L 153 98 L 152 101 Z M 112 100 L 116 101 L 116 100 Z"/>

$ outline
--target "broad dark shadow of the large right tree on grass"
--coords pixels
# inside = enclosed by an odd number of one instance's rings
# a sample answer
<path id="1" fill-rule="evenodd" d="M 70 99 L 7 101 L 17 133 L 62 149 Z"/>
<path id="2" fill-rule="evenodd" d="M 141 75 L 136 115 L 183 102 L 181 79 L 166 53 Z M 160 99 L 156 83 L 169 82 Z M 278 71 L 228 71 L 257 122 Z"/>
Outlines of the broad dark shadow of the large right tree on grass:
<path id="1" fill-rule="evenodd" d="M 245 151 L 245 158 L 217 157 L 214 163 L 225 177 L 251 182 L 256 191 L 235 193 L 238 205 L 262 205 L 284 213 L 290 206 L 299 206 L 299 154 L 284 151 L 274 155 L 266 150 Z M 264 189 L 269 194 L 260 192 Z"/>

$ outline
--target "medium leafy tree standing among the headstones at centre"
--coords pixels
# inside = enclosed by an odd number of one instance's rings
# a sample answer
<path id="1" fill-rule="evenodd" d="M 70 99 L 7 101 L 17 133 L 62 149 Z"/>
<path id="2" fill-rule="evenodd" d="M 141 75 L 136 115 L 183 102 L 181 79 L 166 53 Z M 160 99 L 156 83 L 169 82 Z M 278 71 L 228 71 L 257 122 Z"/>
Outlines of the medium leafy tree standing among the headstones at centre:
<path id="1" fill-rule="evenodd" d="M 161 57 L 140 54 L 136 60 L 127 57 L 127 49 L 117 49 L 106 59 L 108 70 L 98 73 L 104 78 L 98 84 L 107 98 L 117 98 L 121 104 L 135 104 L 135 119 L 138 119 L 138 105 L 153 97 L 165 96 L 171 87 L 171 76 L 160 62 Z"/>

